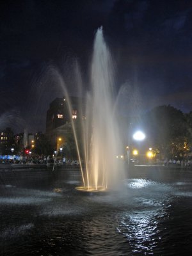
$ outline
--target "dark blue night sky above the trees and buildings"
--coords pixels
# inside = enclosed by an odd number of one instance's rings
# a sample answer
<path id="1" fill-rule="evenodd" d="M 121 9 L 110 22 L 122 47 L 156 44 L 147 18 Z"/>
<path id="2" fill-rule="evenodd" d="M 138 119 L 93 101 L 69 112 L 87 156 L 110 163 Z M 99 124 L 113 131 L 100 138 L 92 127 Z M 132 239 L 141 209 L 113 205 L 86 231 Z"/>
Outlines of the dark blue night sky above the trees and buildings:
<path id="1" fill-rule="evenodd" d="M 103 26 L 122 113 L 171 104 L 192 110 L 192 1 L 4 0 L 0 3 L 0 126 L 45 131 L 49 103 L 88 88 L 93 39 Z M 62 79 L 61 79 L 62 77 Z"/>

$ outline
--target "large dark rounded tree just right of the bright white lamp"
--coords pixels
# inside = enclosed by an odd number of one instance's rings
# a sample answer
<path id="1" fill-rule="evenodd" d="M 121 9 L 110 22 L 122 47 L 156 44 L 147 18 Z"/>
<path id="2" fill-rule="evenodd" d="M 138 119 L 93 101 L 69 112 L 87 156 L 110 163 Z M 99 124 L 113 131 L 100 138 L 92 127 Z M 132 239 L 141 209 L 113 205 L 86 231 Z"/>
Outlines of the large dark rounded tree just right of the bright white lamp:
<path id="1" fill-rule="evenodd" d="M 189 143 L 189 125 L 182 111 L 170 105 L 158 106 L 141 119 L 150 144 L 163 157 L 184 156 L 184 147 Z"/>

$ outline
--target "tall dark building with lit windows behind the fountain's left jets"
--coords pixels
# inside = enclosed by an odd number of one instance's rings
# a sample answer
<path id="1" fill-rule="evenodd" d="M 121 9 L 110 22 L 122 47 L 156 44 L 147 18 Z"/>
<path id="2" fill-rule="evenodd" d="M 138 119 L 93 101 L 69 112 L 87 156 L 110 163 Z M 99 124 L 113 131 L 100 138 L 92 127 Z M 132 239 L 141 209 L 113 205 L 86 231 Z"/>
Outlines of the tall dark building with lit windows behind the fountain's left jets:
<path id="1" fill-rule="evenodd" d="M 59 150 L 65 143 L 65 136 L 71 130 L 71 119 L 79 118 L 79 116 L 83 118 L 82 106 L 84 108 L 84 105 L 81 104 L 80 109 L 79 100 L 81 99 L 78 97 L 56 98 L 49 105 L 46 116 L 46 136 L 54 150 Z"/>

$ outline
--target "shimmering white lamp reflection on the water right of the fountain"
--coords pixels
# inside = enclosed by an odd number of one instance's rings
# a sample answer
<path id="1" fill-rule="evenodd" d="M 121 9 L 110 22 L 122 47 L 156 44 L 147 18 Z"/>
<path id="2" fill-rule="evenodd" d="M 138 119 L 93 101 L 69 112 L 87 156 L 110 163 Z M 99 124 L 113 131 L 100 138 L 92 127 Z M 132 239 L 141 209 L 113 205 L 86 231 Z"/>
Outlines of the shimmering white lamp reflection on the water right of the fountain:
<path id="1" fill-rule="evenodd" d="M 173 197 L 168 192 L 171 188 L 145 179 L 131 179 L 127 186 L 137 191 L 134 194 L 134 208 L 138 209 L 119 214 L 119 225 L 116 229 L 129 241 L 132 253 L 152 255 L 162 239 L 159 225 L 170 214 L 170 201 Z"/>

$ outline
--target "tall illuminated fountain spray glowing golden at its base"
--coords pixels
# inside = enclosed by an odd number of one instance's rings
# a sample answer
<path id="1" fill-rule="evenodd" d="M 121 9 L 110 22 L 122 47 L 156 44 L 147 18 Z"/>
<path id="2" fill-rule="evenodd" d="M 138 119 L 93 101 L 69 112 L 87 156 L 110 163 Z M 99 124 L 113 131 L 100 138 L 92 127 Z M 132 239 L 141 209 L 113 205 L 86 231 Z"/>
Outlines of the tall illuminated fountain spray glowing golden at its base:
<path id="1" fill-rule="evenodd" d="M 115 116 L 114 68 L 102 28 L 99 28 L 95 35 L 91 81 L 92 93 L 91 95 L 87 93 L 85 109 L 81 110 L 81 114 L 83 115 L 84 112 L 86 116 L 81 122 L 83 153 L 79 148 L 77 132 L 72 120 L 83 178 L 83 186 L 76 189 L 100 192 L 115 189 L 122 177 L 116 159 L 116 154 L 120 154 L 122 147 Z M 69 97 L 68 102 L 70 102 Z M 69 109 L 72 111 L 70 104 Z"/>

